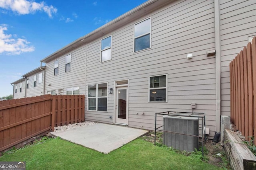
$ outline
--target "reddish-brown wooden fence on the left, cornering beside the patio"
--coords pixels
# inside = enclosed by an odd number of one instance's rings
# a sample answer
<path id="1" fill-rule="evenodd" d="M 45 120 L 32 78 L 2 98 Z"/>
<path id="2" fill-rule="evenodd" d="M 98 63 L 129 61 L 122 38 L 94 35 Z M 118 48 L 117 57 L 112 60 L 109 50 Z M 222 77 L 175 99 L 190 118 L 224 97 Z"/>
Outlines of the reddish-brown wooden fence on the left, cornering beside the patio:
<path id="1" fill-rule="evenodd" d="M 0 102 L 0 151 L 54 126 L 84 121 L 84 95 L 36 96 Z"/>

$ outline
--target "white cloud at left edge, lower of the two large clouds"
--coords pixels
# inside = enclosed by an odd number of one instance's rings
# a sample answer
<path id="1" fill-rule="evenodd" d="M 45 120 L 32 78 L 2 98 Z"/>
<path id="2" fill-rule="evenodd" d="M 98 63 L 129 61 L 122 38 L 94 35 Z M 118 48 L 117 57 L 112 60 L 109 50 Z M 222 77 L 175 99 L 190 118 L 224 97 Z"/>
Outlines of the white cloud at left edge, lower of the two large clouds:
<path id="1" fill-rule="evenodd" d="M 35 48 L 29 45 L 26 39 L 17 38 L 14 39 L 13 35 L 6 34 L 4 31 L 7 30 L 7 25 L 0 25 L 0 54 L 6 53 L 8 55 L 19 55 L 24 52 L 32 52 Z"/>

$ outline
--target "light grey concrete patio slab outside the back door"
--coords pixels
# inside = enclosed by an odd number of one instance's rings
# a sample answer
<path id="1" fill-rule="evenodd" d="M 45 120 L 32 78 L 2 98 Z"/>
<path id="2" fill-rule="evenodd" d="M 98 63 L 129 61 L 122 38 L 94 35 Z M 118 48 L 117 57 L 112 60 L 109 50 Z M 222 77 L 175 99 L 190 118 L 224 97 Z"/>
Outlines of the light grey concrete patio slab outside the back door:
<path id="1" fill-rule="evenodd" d="M 142 129 L 97 123 L 67 131 L 52 132 L 51 134 L 72 143 L 108 154 L 112 150 L 118 149 L 146 133 L 148 131 Z"/>

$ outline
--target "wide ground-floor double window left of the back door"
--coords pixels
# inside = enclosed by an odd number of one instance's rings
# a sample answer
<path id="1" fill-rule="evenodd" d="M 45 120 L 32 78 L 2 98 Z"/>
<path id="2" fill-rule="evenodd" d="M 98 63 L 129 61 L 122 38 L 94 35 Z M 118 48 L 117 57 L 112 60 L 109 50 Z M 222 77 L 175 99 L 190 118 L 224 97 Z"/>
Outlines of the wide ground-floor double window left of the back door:
<path id="1" fill-rule="evenodd" d="M 88 86 L 88 110 L 107 111 L 108 83 Z"/>

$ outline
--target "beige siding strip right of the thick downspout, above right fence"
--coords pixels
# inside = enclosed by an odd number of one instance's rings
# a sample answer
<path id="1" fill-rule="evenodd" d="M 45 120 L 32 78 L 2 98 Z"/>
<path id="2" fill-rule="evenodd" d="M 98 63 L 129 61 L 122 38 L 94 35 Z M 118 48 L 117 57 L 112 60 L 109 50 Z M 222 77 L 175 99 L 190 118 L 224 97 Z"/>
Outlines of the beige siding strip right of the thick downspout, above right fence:
<path id="1" fill-rule="evenodd" d="M 229 63 L 256 35 L 255 0 L 220 1 L 221 114 L 230 116 Z"/>

